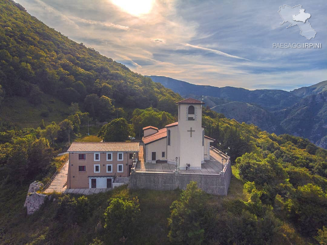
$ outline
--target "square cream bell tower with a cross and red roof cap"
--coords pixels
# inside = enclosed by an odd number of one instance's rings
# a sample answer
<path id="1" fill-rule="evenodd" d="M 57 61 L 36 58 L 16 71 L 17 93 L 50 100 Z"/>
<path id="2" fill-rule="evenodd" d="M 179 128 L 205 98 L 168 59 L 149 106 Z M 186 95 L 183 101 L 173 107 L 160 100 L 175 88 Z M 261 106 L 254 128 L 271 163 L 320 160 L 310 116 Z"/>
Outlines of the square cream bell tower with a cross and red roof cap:
<path id="1" fill-rule="evenodd" d="M 178 131 L 180 135 L 180 169 L 190 164 L 190 169 L 201 169 L 203 159 L 203 102 L 188 98 L 178 105 Z"/>

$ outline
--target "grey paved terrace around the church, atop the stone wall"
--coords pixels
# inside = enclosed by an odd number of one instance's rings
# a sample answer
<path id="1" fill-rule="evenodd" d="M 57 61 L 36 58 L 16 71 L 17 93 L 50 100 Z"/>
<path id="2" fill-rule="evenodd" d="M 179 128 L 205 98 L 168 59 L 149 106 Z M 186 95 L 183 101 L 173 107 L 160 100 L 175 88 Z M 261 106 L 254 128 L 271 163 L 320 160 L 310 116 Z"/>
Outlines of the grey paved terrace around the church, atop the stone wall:
<path id="1" fill-rule="evenodd" d="M 201 170 L 180 170 L 180 173 L 185 174 L 220 174 L 222 171 L 222 164 L 221 164 L 222 157 L 210 150 L 210 160 L 205 160 L 204 163 L 201 165 Z M 225 159 L 224 159 L 225 160 Z M 226 161 L 226 160 L 225 160 Z M 224 162 L 225 166 L 225 162 Z M 135 167 L 136 171 L 149 171 L 149 172 L 167 172 L 172 173 L 174 172 L 176 166 L 175 164 L 168 164 L 168 163 L 138 163 Z"/>

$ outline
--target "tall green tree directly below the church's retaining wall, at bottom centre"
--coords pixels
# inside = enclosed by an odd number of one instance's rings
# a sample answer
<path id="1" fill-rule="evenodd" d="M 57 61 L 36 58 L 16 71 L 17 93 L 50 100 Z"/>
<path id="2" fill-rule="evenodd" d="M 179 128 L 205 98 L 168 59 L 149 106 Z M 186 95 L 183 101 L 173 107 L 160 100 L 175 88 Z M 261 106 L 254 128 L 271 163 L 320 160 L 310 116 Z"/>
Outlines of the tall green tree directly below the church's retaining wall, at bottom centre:
<path id="1" fill-rule="evenodd" d="M 207 223 L 207 194 L 191 181 L 170 206 L 168 237 L 173 244 L 201 244 Z"/>

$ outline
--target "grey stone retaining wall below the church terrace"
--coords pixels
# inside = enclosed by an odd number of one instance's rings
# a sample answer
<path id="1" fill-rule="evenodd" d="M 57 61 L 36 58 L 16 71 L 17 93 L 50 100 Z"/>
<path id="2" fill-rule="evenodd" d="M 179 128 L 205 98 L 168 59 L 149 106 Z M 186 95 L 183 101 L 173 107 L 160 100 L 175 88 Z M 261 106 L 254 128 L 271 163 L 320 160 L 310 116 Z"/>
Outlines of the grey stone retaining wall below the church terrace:
<path id="1" fill-rule="evenodd" d="M 209 194 L 226 196 L 232 177 L 232 166 L 229 162 L 225 172 L 220 174 L 176 174 L 162 172 L 135 172 L 129 176 L 131 189 L 174 190 L 186 189 L 190 181 L 196 181 L 198 187 Z"/>

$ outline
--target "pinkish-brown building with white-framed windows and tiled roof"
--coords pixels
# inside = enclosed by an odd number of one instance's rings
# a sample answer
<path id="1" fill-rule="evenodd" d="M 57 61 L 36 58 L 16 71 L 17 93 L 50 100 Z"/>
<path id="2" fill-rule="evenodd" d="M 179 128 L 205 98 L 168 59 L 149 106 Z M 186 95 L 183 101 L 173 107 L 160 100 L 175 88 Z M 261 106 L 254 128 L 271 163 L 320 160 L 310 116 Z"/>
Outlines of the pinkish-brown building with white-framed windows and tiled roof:
<path id="1" fill-rule="evenodd" d="M 112 188 L 116 177 L 129 177 L 138 159 L 138 142 L 73 142 L 67 188 Z"/>

